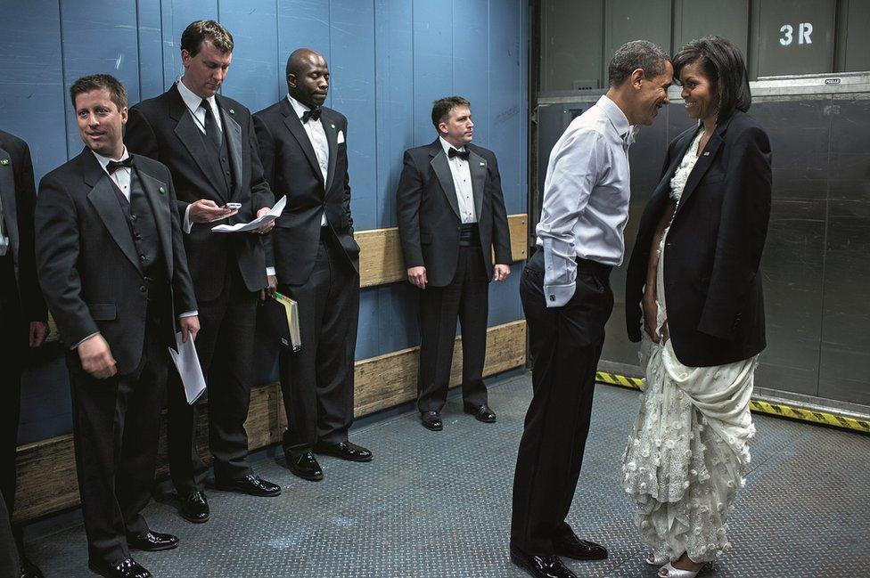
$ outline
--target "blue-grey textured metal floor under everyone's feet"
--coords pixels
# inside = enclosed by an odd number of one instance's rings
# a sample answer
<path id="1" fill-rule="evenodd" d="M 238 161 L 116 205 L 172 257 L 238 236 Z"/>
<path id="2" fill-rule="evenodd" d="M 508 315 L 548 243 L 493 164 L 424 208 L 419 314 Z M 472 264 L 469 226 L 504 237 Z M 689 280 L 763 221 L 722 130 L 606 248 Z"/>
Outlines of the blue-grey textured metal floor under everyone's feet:
<path id="1" fill-rule="evenodd" d="M 370 464 L 324 457 L 325 480 L 302 481 L 283 459 L 255 468 L 283 485 L 278 498 L 209 489 L 211 520 L 192 525 L 152 502 L 152 528 L 176 533 L 177 550 L 134 553 L 161 577 L 483 578 L 521 573 L 507 553 L 517 445 L 531 395 L 522 375 L 490 387 L 496 424 L 462 412 L 454 397 L 444 431 L 416 412 L 361 427 L 352 441 Z M 620 488 L 620 457 L 638 393 L 599 385 L 592 429 L 569 522 L 602 542 L 610 558 L 566 560 L 579 576 L 653 578 L 638 543 L 633 506 Z M 730 523 L 734 549 L 720 578 L 849 578 L 870 567 L 870 436 L 754 416 L 751 471 Z M 280 455 L 280 452 L 279 452 Z M 83 528 L 29 543 L 46 576 L 87 576 Z"/>

